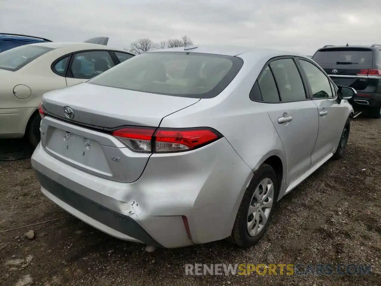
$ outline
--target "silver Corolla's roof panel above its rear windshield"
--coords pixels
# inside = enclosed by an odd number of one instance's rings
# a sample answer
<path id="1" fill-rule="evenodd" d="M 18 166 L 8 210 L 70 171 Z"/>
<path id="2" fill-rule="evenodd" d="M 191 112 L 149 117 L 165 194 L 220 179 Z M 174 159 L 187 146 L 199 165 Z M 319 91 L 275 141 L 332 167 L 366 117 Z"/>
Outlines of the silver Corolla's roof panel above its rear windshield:
<path id="1" fill-rule="evenodd" d="M 226 55 L 226 56 L 238 56 L 242 54 L 255 54 L 259 56 L 302 56 L 305 55 L 295 53 L 292 51 L 282 51 L 282 50 L 274 50 L 267 48 L 257 48 L 257 47 L 243 47 L 243 46 L 218 46 L 218 45 L 203 45 L 192 49 L 184 50 L 184 47 L 178 48 L 165 48 L 165 49 L 157 49 L 153 51 L 148 51 L 147 53 L 155 53 L 155 52 L 187 52 L 187 53 L 205 53 L 205 54 L 214 54 L 214 55 Z"/>

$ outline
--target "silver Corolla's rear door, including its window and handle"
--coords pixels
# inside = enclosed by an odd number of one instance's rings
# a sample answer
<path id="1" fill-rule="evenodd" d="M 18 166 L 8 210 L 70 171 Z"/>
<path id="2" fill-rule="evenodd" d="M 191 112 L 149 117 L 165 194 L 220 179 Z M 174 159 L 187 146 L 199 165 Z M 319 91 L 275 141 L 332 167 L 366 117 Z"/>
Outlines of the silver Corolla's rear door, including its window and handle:
<path id="1" fill-rule="evenodd" d="M 275 58 L 266 65 L 256 82 L 259 98 L 269 104 L 268 113 L 286 152 L 289 184 L 311 166 L 317 138 L 317 106 L 307 96 L 294 58 Z"/>

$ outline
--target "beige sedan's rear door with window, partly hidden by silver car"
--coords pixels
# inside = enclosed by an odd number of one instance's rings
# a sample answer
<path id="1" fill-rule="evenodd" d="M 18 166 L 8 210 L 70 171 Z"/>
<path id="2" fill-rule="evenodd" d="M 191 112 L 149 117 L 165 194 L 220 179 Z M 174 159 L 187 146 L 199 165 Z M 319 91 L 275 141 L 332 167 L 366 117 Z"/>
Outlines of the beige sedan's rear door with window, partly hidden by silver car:
<path id="1" fill-rule="evenodd" d="M 66 73 L 67 86 L 80 84 L 115 66 L 107 50 L 80 51 L 72 56 Z"/>

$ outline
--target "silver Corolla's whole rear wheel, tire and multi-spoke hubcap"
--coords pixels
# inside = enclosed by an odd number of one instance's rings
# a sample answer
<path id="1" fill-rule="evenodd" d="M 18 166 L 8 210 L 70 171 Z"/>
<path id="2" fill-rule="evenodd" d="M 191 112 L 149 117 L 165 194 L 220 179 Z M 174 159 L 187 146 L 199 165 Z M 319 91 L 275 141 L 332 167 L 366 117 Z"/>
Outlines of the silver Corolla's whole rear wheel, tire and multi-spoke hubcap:
<path id="1" fill-rule="evenodd" d="M 277 195 L 277 175 L 270 165 L 263 164 L 254 173 L 243 195 L 228 240 L 245 248 L 255 245 L 270 223 Z"/>

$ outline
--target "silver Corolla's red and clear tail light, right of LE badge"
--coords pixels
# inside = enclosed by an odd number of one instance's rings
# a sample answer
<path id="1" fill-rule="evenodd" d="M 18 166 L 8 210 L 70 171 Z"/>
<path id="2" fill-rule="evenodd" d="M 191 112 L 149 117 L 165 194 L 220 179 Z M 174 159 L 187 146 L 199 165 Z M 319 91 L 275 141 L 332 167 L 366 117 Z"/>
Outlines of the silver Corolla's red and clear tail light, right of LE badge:
<path id="1" fill-rule="evenodd" d="M 173 153 L 208 145 L 223 136 L 211 128 L 168 129 L 128 127 L 112 133 L 132 151 Z"/>

